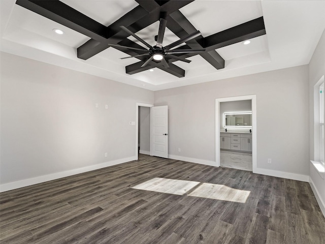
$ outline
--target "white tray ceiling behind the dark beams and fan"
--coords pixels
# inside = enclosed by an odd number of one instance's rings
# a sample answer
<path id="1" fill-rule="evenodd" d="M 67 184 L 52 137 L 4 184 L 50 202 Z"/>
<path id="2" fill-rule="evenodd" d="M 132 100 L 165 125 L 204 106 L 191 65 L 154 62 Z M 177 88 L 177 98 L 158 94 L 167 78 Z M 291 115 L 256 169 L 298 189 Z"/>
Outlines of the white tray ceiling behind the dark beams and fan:
<path id="1" fill-rule="evenodd" d="M 106 26 L 138 5 L 134 0 L 61 2 Z M 185 70 L 185 77 L 178 78 L 157 68 L 153 72 L 147 70 L 128 75 L 125 66 L 137 63 L 139 59 L 120 59 L 127 54 L 113 47 L 87 60 L 79 59 L 76 48 L 89 40 L 88 37 L 16 5 L 15 0 L 0 0 L 0 10 L 1 51 L 150 90 L 309 64 L 325 29 L 323 0 L 196 0 L 180 11 L 203 37 L 261 16 L 267 35 L 251 39 L 249 45 L 236 43 L 216 49 L 225 59 L 224 69 L 216 70 L 200 55 L 189 57 L 192 60 L 189 64 L 177 61 L 174 64 Z M 137 35 L 154 46 L 158 24 L 151 24 Z M 53 28 L 62 29 L 64 35 L 55 34 Z M 137 41 L 133 37 L 129 39 Z M 163 45 L 177 40 L 178 37 L 166 29 Z"/>

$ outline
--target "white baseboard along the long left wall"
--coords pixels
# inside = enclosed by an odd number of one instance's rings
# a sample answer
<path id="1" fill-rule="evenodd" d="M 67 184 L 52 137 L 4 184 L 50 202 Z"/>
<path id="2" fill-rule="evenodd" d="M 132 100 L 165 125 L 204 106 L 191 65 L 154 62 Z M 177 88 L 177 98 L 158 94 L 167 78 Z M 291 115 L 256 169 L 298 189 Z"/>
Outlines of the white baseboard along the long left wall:
<path id="1" fill-rule="evenodd" d="M 96 169 L 101 169 L 101 168 L 106 168 L 109 166 L 117 165 L 117 164 L 122 164 L 130 161 L 136 160 L 136 157 L 129 157 L 129 158 L 124 158 L 124 159 L 118 159 L 118 160 L 113 160 L 101 164 L 95 164 L 83 168 L 78 168 L 78 169 L 72 169 L 72 170 L 67 170 L 67 171 L 62 171 L 58 173 L 53 173 L 53 174 L 47 174 L 47 175 L 42 175 L 34 178 L 29 178 L 29 179 L 22 179 L 14 182 L 9 182 L 7 184 L 0 185 L 0 192 L 6 192 L 10 190 L 14 190 L 17 188 L 22 188 L 22 187 L 27 187 L 35 184 L 39 184 L 45 181 L 53 180 L 53 179 L 59 179 L 75 174 L 80 174 Z"/>

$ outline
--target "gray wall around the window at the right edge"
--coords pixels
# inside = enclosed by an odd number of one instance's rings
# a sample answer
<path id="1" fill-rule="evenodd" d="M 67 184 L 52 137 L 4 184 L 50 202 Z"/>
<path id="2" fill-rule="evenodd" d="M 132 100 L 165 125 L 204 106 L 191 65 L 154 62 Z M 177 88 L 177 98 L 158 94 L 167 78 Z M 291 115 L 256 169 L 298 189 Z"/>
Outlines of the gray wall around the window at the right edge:
<path id="1" fill-rule="evenodd" d="M 309 63 L 309 154 L 311 160 L 314 160 L 314 85 L 323 75 L 325 75 L 325 31 Z M 325 179 L 320 177 L 312 164 L 310 164 L 309 170 L 310 179 L 322 201 L 322 210 L 325 215 Z"/>

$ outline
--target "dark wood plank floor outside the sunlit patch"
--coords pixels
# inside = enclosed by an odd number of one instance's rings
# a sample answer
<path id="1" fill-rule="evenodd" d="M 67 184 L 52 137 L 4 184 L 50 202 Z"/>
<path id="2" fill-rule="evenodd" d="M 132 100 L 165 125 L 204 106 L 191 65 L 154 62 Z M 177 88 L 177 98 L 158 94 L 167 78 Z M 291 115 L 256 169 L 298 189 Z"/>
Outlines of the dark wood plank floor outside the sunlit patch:
<path id="1" fill-rule="evenodd" d="M 239 203 L 130 188 L 153 177 L 250 195 Z M 307 182 L 145 155 L 0 197 L 0 243 L 325 243 Z"/>

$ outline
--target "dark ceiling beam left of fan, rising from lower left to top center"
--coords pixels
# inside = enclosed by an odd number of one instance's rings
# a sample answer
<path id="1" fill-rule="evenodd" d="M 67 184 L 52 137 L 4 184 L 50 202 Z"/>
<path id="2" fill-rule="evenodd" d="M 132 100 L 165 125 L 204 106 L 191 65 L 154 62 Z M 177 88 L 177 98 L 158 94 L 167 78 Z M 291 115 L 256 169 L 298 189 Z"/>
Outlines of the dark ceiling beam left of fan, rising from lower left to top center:
<path id="1" fill-rule="evenodd" d="M 108 44 L 118 44 L 119 41 L 127 38 L 129 35 L 120 29 L 119 26 L 124 25 L 132 31 L 133 33 L 137 33 L 141 29 L 149 26 L 150 24 L 156 22 L 160 18 L 161 12 L 166 12 L 166 14 L 171 14 L 174 11 L 186 6 L 187 4 L 193 2 L 193 0 L 184 0 L 184 1 L 169 1 L 165 3 L 163 6 L 157 4 L 154 0 L 137 0 L 139 6 L 136 8 L 142 9 L 145 11 L 145 14 L 141 17 L 141 15 L 135 18 L 135 14 L 128 12 L 119 20 L 115 21 L 107 28 L 109 30 L 114 30 L 114 32 L 109 31 L 109 37 L 104 42 L 98 42 L 90 39 L 85 44 L 81 45 L 77 48 L 77 56 L 82 59 L 88 59 L 101 51 L 104 51 L 108 48 Z M 117 31 L 117 33 L 116 33 Z M 120 31 L 120 32 L 118 32 Z M 113 35 L 111 35 L 113 33 Z"/>

